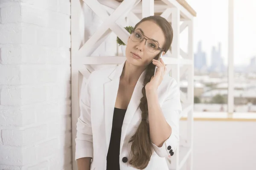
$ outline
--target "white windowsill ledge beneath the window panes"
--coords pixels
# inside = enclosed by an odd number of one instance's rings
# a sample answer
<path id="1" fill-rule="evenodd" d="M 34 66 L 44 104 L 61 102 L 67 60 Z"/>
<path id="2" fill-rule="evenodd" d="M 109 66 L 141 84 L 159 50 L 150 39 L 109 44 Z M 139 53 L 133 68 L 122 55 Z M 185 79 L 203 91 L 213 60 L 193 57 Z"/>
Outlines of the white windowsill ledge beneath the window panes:
<path id="1" fill-rule="evenodd" d="M 195 121 L 250 121 L 256 122 L 256 113 L 233 113 L 227 112 L 194 112 L 193 117 Z M 186 116 L 181 120 L 186 120 Z"/>

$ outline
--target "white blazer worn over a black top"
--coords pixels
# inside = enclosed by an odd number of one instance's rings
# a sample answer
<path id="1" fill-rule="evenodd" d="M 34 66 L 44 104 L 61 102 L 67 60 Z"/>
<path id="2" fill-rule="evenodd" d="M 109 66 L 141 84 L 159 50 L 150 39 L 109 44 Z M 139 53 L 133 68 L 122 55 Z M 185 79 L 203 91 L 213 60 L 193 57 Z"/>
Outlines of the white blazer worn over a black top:
<path id="1" fill-rule="evenodd" d="M 77 122 L 75 159 L 92 157 L 90 170 L 106 170 L 113 111 L 124 65 L 125 62 L 115 68 L 93 71 L 81 89 L 81 114 Z M 143 96 L 144 77 L 145 71 L 141 74 L 134 88 L 122 124 L 120 170 L 136 170 L 128 164 L 128 161 L 123 161 L 126 158 L 129 160 L 131 143 L 128 141 L 141 122 L 139 104 Z M 165 157 L 175 152 L 179 141 L 178 127 L 181 103 L 180 90 L 175 79 L 166 75 L 157 89 L 157 94 L 166 121 L 172 127 L 172 134 L 162 147 L 157 147 L 152 143 L 151 160 L 145 170 L 168 170 Z M 124 157 L 126 158 L 123 159 Z"/>

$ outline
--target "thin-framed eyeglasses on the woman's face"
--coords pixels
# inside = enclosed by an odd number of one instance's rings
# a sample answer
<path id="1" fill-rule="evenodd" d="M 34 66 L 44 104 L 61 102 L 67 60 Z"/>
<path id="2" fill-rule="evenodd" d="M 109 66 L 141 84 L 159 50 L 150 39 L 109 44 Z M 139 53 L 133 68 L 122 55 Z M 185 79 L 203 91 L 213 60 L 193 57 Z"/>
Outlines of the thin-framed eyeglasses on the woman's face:
<path id="1" fill-rule="evenodd" d="M 145 46 L 147 50 L 151 53 L 154 53 L 157 50 L 163 51 L 163 48 L 160 48 L 157 42 L 149 39 L 148 37 L 145 38 L 146 36 L 140 33 L 139 31 L 133 31 L 131 33 L 131 40 L 134 42 L 142 42 L 145 39 Z"/>

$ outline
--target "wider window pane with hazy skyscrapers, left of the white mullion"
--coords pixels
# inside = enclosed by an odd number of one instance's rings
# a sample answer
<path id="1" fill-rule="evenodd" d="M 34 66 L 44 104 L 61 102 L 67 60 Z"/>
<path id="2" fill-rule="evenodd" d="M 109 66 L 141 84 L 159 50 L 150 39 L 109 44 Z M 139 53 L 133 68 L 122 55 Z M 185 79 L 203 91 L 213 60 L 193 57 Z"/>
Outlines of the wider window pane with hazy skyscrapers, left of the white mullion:
<path id="1" fill-rule="evenodd" d="M 226 112 L 228 0 L 187 1 L 197 11 L 194 18 L 194 111 Z"/>

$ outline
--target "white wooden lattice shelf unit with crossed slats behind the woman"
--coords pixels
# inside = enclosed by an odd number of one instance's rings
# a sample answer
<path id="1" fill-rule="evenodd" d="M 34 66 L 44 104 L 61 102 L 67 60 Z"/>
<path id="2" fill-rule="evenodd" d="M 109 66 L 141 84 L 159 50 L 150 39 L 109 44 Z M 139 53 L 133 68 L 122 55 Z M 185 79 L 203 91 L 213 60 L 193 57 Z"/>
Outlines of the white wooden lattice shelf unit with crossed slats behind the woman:
<path id="1" fill-rule="evenodd" d="M 103 21 L 96 32 L 81 48 L 79 37 L 79 15 L 82 5 L 87 5 Z M 72 134 L 73 134 L 73 170 L 77 170 L 75 158 L 76 122 L 79 117 L 79 89 L 83 77 L 87 79 L 92 71 L 92 65 L 120 64 L 125 57 L 91 57 L 93 51 L 106 40 L 113 31 L 123 42 L 127 42 L 129 33 L 123 28 L 123 21 L 135 25 L 140 18 L 159 14 L 166 18 L 174 30 L 172 51 L 163 57 L 167 71 L 174 77 L 178 84 L 180 77 L 188 75 L 187 94 L 180 91 L 183 112 L 187 116 L 186 145 L 178 147 L 175 156 L 171 158 L 170 169 L 180 170 L 187 163 L 187 170 L 192 170 L 192 132 L 193 132 L 193 16 L 176 0 L 71 0 L 71 71 L 72 71 Z M 180 33 L 188 28 L 188 52 L 180 48 Z M 166 158 L 169 162 L 170 158 Z"/>

